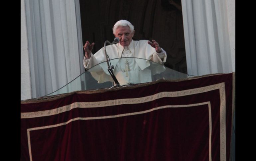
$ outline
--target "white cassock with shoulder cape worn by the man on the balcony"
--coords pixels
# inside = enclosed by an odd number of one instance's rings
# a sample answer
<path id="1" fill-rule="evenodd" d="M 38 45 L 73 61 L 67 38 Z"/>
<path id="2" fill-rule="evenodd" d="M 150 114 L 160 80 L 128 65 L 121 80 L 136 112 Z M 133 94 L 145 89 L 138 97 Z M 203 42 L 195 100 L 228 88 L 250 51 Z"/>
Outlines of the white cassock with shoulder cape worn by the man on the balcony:
<path id="1" fill-rule="evenodd" d="M 163 66 L 166 61 L 166 51 L 162 49 L 157 53 L 156 49 L 148 44 L 148 40 L 132 40 L 129 46 L 123 47 L 119 43 L 106 46 L 106 52 L 114 66 L 113 72 L 120 85 L 151 82 L 151 75 L 159 74 L 165 70 Z M 115 59 L 121 58 L 122 59 Z M 135 58 L 125 58 L 135 57 Z M 161 65 L 150 66 L 150 61 Z M 114 82 L 107 71 L 104 47 L 95 54 L 91 54 L 90 59 L 84 56 L 83 65 L 91 72 L 91 75 L 98 83 Z M 101 64 L 99 64 L 101 63 Z M 99 64 L 99 65 L 97 65 Z M 152 64 L 152 63 L 151 63 Z"/>

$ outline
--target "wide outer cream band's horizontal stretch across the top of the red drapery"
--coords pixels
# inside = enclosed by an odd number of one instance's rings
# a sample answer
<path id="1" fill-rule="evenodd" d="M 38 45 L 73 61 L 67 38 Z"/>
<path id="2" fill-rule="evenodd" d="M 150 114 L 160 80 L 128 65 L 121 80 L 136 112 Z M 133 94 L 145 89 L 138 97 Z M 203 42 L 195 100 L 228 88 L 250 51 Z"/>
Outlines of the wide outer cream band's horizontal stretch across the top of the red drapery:
<path id="1" fill-rule="evenodd" d="M 224 83 L 218 83 L 210 86 L 188 89 L 183 91 L 160 92 L 154 95 L 140 97 L 140 98 L 116 99 L 116 100 L 107 100 L 107 101 L 98 101 L 98 102 L 74 102 L 70 105 L 62 106 L 52 110 L 21 113 L 21 119 L 57 115 L 63 112 L 70 111 L 75 108 L 97 108 L 97 107 L 108 107 L 108 106 L 116 106 L 116 105 L 123 105 L 123 104 L 140 104 L 140 103 L 150 102 L 150 101 L 164 98 L 164 97 L 180 97 L 180 96 L 187 96 L 187 95 L 192 95 L 197 93 L 208 92 L 215 89 L 220 89 L 223 86 L 225 86 Z"/>

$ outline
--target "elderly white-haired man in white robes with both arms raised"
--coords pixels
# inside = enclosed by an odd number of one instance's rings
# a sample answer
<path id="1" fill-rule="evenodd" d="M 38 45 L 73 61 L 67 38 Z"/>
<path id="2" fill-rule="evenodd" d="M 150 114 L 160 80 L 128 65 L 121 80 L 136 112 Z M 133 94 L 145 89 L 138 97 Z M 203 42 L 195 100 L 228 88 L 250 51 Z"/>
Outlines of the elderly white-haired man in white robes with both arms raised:
<path id="1" fill-rule="evenodd" d="M 160 73 L 165 70 L 164 66 L 158 66 L 153 70 L 154 72 L 152 72 L 150 62 L 148 61 L 151 60 L 163 65 L 166 61 L 166 52 L 164 49 L 161 48 L 155 40 L 152 40 L 152 42 L 148 40 L 132 40 L 134 33 L 134 26 L 129 21 L 117 21 L 113 27 L 113 34 L 115 37 L 119 38 L 120 41 L 117 44 L 106 46 L 110 60 L 122 58 L 111 60 L 111 64 L 114 66 L 114 75 L 121 85 L 150 82 L 152 74 Z M 92 54 L 93 46 L 94 42 L 90 44 L 89 41 L 86 41 L 83 46 L 85 51 L 83 65 L 86 69 L 90 69 L 96 64 L 106 60 L 104 47 L 95 54 Z M 91 68 L 89 71 L 98 83 L 106 81 L 113 82 L 113 79 L 107 72 L 106 65 L 98 65 L 97 67 Z"/>

